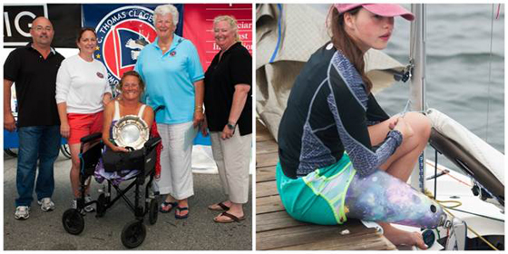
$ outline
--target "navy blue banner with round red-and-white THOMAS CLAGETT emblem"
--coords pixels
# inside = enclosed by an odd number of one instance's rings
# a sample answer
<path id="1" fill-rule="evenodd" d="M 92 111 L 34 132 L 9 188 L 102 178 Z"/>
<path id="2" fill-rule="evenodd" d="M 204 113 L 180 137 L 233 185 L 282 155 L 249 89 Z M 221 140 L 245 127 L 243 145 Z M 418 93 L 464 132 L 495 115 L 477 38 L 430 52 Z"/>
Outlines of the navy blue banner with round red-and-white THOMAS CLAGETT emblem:
<path id="1" fill-rule="evenodd" d="M 119 83 L 122 74 L 134 68 L 142 48 L 157 37 L 153 26 L 157 5 L 83 5 L 83 26 L 97 33 L 94 56 L 106 66 L 110 84 Z M 182 5 L 175 7 L 180 13 L 176 34 L 181 35 Z"/>

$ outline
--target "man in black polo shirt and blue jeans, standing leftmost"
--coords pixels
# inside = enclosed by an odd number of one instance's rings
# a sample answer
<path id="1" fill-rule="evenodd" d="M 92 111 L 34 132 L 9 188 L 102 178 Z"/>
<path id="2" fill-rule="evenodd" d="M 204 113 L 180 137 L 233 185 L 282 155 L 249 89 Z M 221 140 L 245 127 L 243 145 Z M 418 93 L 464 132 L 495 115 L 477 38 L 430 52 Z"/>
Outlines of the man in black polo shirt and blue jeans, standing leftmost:
<path id="1" fill-rule="evenodd" d="M 18 198 L 15 219 L 26 220 L 33 200 L 37 162 L 39 174 L 35 185 L 37 200 L 44 211 L 54 210 L 54 160 L 60 147 L 60 120 L 54 99 L 56 73 L 64 60 L 51 47 L 53 24 L 37 17 L 30 29 L 33 43 L 15 49 L 4 64 L 4 128 L 17 129 L 19 150 L 16 173 Z M 18 103 L 17 124 L 11 112 L 11 86 L 15 83 Z M 17 126 L 16 126 L 17 125 Z"/>

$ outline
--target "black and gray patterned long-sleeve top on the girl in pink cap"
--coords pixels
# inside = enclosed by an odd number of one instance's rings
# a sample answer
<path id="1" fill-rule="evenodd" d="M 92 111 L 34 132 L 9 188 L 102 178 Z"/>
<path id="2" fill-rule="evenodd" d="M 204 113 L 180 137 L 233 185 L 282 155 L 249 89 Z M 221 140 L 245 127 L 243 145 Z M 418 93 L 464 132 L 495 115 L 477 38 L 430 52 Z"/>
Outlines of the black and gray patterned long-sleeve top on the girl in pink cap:
<path id="1" fill-rule="evenodd" d="M 278 156 L 290 178 L 336 163 L 344 151 L 366 176 L 396 151 L 402 134 L 390 131 L 376 151 L 367 126 L 388 119 L 366 93 L 354 65 L 327 44 L 312 54 L 289 94 L 278 129 Z"/>

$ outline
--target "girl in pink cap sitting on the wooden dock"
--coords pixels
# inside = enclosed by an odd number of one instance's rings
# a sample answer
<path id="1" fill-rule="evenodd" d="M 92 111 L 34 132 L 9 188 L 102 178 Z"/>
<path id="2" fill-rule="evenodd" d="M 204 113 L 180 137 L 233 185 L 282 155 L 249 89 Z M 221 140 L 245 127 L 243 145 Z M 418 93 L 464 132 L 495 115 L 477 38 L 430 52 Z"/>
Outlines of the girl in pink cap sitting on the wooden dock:
<path id="1" fill-rule="evenodd" d="M 277 187 L 297 220 L 374 220 L 395 245 L 426 249 L 420 234 L 389 223 L 435 228 L 446 218 L 437 203 L 405 183 L 430 124 L 416 112 L 390 118 L 364 71 L 364 54 L 386 48 L 398 15 L 414 19 L 399 5 L 333 5 L 331 42 L 298 75 L 280 122 Z"/>

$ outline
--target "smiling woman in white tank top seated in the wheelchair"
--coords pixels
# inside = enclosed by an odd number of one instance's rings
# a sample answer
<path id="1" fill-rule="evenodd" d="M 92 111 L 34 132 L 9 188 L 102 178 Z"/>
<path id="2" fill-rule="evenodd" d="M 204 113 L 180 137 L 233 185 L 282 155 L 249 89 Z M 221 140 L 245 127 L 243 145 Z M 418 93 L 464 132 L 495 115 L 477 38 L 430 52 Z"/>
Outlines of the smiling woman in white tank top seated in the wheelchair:
<path id="1" fill-rule="evenodd" d="M 104 110 L 103 123 L 103 142 L 107 149 L 112 151 L 128 152 L 125 147 L 117 146 L 110 139 L 112 137 L 112 126 L 125 115 L 138 115 L 151 128 L 153 122 L 153 110 L 150 106 L 140 102 L 145 84 L 142 82 L 140 74 L 135 71 L 123 73 L 122 79 L 118 84 L 118 90 L 121 92 L 113 103 L 109 103 Z M 118 171 L 106 172 L 103 169 L 103 161 L 97 165 L 95 171 L 95 179 L 102 182 L 103 179 L 112 180 L 113 184 L 117 184 L 122 180 L 129 179 L 135 175 L 136 171 Z"/>

